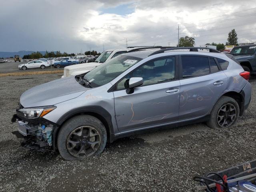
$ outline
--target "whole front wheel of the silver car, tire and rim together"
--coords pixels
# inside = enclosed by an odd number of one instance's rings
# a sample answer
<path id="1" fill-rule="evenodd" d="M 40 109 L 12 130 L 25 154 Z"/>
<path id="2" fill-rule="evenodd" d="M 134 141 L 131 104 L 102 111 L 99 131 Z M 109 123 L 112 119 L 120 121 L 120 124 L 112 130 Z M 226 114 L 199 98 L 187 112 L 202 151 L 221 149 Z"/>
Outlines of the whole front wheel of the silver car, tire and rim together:
<path id="1" fill-rule="evenodd" d="M 80 115 L 68 120 L 57 138 L 60 155 L 66 160 L 82 160 L 100 154 L 107 142 L 107 132 L 100 120 Z"/>

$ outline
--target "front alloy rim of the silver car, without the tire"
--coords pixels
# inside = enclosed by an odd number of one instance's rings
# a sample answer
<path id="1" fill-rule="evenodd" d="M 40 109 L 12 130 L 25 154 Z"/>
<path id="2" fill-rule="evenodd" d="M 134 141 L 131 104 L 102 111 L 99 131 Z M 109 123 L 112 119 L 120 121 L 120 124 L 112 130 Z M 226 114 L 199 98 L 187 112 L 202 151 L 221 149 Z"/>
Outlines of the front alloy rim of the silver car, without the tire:
<path id="1" fill-rule="evenodd" d="M 81 126 L 69 134 L 66 146 L 72 156 L 85 158 L 92 156 L 98 150 L 100 142 L 100 134 L 95 128 Z"/>

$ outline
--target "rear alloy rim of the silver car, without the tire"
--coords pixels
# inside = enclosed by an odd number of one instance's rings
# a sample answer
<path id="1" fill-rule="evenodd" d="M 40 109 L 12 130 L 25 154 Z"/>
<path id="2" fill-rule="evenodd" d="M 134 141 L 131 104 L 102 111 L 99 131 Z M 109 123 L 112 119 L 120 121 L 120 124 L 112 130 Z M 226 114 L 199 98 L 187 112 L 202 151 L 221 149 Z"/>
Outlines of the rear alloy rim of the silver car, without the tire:
<path id="1" fill-rule="evenodd" d="M 229 127 L 233 124 L 234 120 L 236 119 L 236 107 L 231 104 L 227 103 L 224 104 L 217 115 L 217 122 L 220 127 Z"/>

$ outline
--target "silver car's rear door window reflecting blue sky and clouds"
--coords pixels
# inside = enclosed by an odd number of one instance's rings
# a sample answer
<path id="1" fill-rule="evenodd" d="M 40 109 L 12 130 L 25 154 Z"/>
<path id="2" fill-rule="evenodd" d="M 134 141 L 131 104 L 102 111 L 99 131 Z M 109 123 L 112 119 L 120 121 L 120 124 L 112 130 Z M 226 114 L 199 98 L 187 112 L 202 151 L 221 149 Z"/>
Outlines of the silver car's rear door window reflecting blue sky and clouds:
<path id="1" fill-rule="evenodd" d="M 210 73 L 209 59 L 202 56 L 181 56 L 182 77 L 189 78 Z"/>

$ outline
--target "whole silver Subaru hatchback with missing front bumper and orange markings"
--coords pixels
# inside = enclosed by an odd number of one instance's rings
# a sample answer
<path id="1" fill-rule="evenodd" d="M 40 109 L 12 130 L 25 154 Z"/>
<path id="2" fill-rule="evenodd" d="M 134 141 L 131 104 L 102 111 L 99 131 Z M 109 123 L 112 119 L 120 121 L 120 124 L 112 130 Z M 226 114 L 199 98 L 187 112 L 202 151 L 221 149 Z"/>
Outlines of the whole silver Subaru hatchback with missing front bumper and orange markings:
<path id="1" fill-rule="evenodd" d="M 231 127 L 250 103 L 250 74 L 232 55 L 198 49 L 138 48 L 86 74 L 31 88 L 20 97 L 13 134 L 24 138 L 22 146 L 77 160 L 160 126 Z"/>

